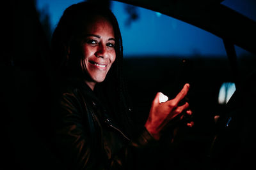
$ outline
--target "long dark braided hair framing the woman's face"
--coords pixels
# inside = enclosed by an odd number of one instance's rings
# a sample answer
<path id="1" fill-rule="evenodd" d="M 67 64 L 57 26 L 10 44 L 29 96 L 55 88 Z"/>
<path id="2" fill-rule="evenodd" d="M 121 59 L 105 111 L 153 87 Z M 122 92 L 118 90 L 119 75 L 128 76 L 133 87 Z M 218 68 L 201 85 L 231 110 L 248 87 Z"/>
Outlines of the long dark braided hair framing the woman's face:
<path id="1" fill-rule="evenodd" d="M 95 91 L 108 105 L 109 112 L 130 136 L 132 136 L 132 121 L 130 118 L 131 102 L 125 87 L 122 62 L 123 45 L 122 36 L 115 15 L 108 8 L 99 3 L 82 2 L 68 7 L 52 34 L 52 60 L 53 69 L 58 75 L 84 77 L 81 68 L 81 56 L 79 46 L 81 45 L 81 34 L 90 22 L 90 19 L 100 15 L 112 24 L 115 33 L 116 60 L 102 83 L 97 83 Z"/>

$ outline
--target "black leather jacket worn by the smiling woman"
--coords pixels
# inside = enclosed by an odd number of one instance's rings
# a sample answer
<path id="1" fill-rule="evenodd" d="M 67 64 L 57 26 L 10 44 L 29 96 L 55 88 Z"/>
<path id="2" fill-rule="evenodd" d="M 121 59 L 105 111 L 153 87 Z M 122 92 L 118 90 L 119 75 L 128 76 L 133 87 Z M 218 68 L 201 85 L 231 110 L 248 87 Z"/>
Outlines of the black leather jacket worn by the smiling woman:
<path id="1" fill-rule="evenodd" d="M 58 98 L 53 143 L 68 169 L 134 169 L 140 164 L 143 149 L 154 141 L 145 128 L 138 138 L 127 137 L 85 83 L 62 89 Z"/>

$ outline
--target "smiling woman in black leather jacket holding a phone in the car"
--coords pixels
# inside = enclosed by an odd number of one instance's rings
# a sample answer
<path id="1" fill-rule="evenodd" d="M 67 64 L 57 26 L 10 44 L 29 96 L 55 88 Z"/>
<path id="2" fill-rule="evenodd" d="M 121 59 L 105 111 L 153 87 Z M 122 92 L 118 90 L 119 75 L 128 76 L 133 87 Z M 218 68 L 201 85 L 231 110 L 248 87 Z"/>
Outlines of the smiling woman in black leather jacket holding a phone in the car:
<path id="1" fill-rule="evenodd" d="M 116 18 L 99 4 L 68 7 L 54 31 L 58 94 L 53 142 L 68 169 L 139 166 L 145 148 L 159 140 L 173 118 L 182 111 L 191 115 L 188 103 L 178 105 L 188 93 L 186 84 L 175 99 L 164 103 L 158 93 L 146 124 L 135 129 L 122 78 L 122 50 Z"/>

